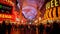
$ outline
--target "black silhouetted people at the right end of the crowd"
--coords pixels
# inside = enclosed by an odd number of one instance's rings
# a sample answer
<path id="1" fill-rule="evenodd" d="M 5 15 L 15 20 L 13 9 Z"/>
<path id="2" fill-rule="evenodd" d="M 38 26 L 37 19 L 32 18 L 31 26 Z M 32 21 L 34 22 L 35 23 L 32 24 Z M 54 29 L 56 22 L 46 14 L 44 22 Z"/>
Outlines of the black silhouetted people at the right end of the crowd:
<path id="1" fill-rule="evenodd" d="M 38 27 L 40 34 L 60 34 L 60 22 L 54 21 L 53 23 L 40 24 Z"/>

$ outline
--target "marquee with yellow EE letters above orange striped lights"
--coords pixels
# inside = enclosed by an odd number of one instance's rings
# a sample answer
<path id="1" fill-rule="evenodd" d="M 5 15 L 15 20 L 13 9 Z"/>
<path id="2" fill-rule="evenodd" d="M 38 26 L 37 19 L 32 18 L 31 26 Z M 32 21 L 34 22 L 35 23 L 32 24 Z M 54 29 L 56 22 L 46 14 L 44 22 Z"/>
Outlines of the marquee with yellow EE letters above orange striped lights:
<path id="1" fill-rule="evenodd" d="M 51 0 L 46 4 L 44 19 L 60 17 L 60 0 Z"/>

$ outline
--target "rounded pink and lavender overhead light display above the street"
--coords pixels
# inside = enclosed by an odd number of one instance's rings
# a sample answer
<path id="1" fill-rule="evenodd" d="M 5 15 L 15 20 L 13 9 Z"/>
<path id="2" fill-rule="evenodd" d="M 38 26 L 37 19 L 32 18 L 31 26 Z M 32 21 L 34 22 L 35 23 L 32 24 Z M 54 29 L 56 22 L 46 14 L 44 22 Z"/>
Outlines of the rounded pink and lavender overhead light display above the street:
<path id="1" fill-rule="evenodd" d="M 22 14 L 28 20 L 32 20 L 37 15 L 37 10 L 32 6 L 26 6 L 22 8 Z"/>

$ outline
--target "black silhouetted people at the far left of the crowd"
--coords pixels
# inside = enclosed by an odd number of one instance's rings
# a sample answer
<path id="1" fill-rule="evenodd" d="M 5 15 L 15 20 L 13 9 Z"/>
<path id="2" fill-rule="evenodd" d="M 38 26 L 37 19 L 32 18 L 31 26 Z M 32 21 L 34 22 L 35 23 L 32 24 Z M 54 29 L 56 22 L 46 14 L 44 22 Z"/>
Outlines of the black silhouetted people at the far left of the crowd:
<path id="1" fill-rule="evenodd" d="M 0 23 L 0 34 L 6 34 L 6 31 L 8 31 L 8 34 L 10 34 L 11 27 L 12 26 L 10 23 L 6 24 L 5 21 L 3 21 Z"/>

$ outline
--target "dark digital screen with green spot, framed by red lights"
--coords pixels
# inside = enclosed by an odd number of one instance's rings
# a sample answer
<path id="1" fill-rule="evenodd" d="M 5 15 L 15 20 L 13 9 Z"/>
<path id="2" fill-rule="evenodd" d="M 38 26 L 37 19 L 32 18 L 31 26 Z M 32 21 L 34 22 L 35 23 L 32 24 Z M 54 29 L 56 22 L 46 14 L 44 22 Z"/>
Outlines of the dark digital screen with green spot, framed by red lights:
<path id="1" fill-rule="evenodd" d="M 0 3 L 0 13 L 11 14 L 12 6 Z"/>

